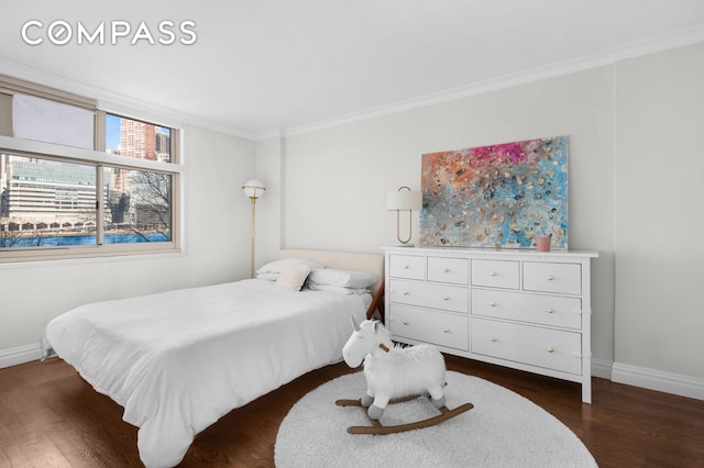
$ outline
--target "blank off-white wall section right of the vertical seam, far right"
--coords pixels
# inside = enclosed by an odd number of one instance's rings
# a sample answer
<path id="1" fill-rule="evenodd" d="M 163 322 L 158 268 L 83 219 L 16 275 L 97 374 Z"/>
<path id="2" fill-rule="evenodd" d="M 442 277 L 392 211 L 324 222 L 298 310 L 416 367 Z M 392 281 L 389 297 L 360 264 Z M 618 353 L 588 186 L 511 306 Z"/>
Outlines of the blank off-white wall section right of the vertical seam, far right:
<path id="1" fill-rule="evenodd" d="M 704 43 L 615 76 L 616 361 L 704 382 Z"/>

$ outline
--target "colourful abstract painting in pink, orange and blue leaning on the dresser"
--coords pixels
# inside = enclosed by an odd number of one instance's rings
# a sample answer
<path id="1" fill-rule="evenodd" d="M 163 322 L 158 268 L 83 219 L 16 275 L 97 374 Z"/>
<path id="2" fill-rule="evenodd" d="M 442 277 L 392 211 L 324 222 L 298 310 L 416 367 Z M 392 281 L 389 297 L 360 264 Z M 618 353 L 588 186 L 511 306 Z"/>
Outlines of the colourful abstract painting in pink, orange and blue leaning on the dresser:
<path id="1" fill-rule="evenodd" d="M 568 137 L 422 155 L 426 246 L 568 248 Z"/>

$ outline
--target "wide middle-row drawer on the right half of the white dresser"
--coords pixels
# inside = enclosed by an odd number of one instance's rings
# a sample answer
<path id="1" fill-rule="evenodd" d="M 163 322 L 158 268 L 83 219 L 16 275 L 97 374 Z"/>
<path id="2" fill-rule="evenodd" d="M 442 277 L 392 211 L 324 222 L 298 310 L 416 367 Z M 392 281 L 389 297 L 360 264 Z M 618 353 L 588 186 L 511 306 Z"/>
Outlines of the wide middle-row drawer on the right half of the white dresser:
<path id="1" fill-rule="evenodd" d="M 581 330 L 581 311 L 580 298 L 472 290 L 472 315 Z"/>

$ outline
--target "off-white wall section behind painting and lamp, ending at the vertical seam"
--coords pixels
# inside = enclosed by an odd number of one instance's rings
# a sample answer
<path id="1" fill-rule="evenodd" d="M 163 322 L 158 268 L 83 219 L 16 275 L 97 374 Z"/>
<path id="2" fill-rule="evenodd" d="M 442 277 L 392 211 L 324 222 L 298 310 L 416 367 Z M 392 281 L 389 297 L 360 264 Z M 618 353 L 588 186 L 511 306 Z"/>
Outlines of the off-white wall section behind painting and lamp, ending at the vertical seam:
<path id="1" fill-rule="evenodd" d="M 595 68 L 287 137 L 284 245 L 378 253 L 396 239 L 386 192 L 420 189 L 424 153 L 568 134 L 569 242 L 600 252 L 592 347 L 596 358 L 613 360 L 612 78 L 610 67 Z"/>

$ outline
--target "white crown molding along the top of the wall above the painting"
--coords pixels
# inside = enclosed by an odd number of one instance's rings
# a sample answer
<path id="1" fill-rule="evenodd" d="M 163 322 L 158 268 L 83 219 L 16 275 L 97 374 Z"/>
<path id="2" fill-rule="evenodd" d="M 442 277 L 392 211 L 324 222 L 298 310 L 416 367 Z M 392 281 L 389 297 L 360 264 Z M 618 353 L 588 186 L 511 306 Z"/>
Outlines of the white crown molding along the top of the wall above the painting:
<path id="1" fill-rule="evenodd" d="M 618 47 L 607 48 L 574 59 L 531 68 L 516 74 L 504 75 L 502 77 L 469 83 L 465 86 L 451 88 L 444 91 L 433 92 L 404 101 L 397 101 L 391 104 L 380 105 L 360 112 L 323 119 L 308 124 L 289 126 L 284 129 L 283 132 L 285 136 L 300 135 L 304 133 L 315 132 L 332 126 L 360 122 L 367 119 L 405 112 L 414 109 L 425 108 L 428 105 L 440 104 L 443 102 L 454 101 L 476 94 L 483 94 L 491 91 L 569 75 L 576 71 L 583 71 L 591 68 L 612 66 L 619 60 L 682 47 L 697 42 L 704 42 L 704 25 L 697 25 L 695 27 L 682 30 L 675 33 L 663 34 L 642 41 L 627 43 Z M 268 133 L 270 132 L 257 133 L 255 135 L 255 140 L 264 140 L 265 137 L 267 137 L 266 135 L 268 135 Z"/>

